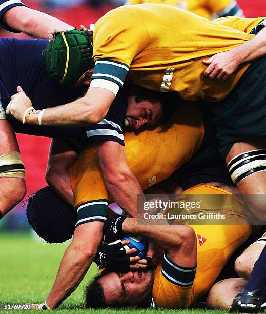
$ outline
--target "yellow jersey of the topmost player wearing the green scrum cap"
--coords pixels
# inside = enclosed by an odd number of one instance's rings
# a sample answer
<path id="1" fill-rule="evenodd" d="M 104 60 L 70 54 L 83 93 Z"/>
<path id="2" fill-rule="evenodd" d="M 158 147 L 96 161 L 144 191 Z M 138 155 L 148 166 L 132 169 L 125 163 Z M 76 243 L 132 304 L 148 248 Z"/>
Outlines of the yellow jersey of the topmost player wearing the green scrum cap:
<path id="1" fill-rule="evenodd" d="M 203 76 L 206 66 L 202 60 L 251 38 L 253 35 L 170 6 L 122 6 L 95 24 L 92 80 L 104 78 L 121 87 L 128 74 L 137 85 L 174 90 L 185 100 L 220 101 L 249 65 L 221 82 Z"/>

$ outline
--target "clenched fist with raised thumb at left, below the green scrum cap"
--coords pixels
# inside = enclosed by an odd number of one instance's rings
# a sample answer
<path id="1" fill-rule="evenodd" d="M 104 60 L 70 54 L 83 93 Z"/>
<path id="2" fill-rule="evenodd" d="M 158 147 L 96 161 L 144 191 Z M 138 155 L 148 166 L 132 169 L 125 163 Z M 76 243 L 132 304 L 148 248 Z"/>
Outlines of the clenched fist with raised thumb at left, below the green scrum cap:
<path id="1" fill-rule="evenodd" d="M 26 96 L 24 90 L 18 86 L 17 94 L 11 96 L 6 113 L 13 115 L 18 121 L 23 122 L 24 113 L 29 107 L 32 107 L 31 100 Z"/>

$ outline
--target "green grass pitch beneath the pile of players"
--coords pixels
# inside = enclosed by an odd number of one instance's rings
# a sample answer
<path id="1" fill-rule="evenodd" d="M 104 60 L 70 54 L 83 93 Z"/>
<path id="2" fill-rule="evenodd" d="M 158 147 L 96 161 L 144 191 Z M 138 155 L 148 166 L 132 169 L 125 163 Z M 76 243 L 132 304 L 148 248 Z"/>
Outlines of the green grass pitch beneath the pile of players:
<path id="1" fill-rule="evenodd" d="M 35 241 L 30 234 L 0 233 L 0 304 L 43 303 L 50 291 L 66 247 L 66 243 L 47 244 Z M 226 313 L 226 311 L 159 309 L 85 310 L 83 289 L 96 273 L 97 268 L 93 265 L 77 290 L 53 313 Z M 12 310 L 12 313 L 21 312 Z M 8 311 L 0 310 L 0 313 L 8 313 Z"/>

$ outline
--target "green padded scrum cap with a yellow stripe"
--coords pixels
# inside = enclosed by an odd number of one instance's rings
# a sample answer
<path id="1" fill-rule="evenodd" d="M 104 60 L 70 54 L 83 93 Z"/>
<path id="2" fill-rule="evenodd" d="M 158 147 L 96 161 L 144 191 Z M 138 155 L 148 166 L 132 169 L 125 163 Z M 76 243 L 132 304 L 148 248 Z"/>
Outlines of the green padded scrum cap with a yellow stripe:
<path id="1" fill-rule="evenodd" d="M 47 71 L 55 81 L 74 86 L 94 68 L 93 47 L 84 29 L 56 32 L 45 50 Z"/>

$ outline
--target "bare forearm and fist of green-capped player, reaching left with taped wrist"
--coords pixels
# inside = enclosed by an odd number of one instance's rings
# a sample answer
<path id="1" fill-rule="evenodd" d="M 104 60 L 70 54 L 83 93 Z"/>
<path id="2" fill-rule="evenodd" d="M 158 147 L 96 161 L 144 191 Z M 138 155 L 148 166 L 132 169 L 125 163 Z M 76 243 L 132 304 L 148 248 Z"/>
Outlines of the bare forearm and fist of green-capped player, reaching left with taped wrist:
<path id="1" fill-rule="evenodd" d="M 17 91 L 18 93 L 11 97 L 6 112 L 23 122 L 24 113 L 29 107 L 32 107 L 32 104 L 21 87 L 18 87 Z M 104 119 L 114 99 L 115 95 L 111 91 L 105 88 L 90 87 L 84 97 L 72 103 L 47 108 L 44 112 L 33 108 L 26 115 L 25 123 L 38 125 L 40 112 L 43 113 L 42 125 L 47 126 L 78 127 L 98 123 Z"/>

